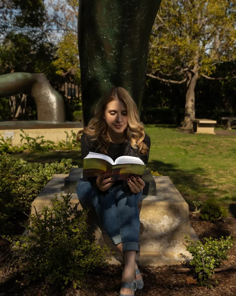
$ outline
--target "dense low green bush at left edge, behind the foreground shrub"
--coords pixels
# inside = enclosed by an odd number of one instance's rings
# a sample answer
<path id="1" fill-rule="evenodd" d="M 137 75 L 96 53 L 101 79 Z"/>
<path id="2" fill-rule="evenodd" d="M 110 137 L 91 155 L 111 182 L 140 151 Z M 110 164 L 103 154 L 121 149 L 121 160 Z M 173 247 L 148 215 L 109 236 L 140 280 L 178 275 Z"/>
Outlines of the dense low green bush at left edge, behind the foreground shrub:
<path id="1" fill-rule="evenodd" d="M 12 156 L 0 158 L 0 229 L 10 223 L 13 215 L 29 211 L 31 203 L 54 174 L 67 174 L 73 167 L 71 159 L 60 163 L 28 163 Z M 74 166 L 75 167 L 75 166 Z M 76 166 L 78 167 L 78 166 Z"/>

